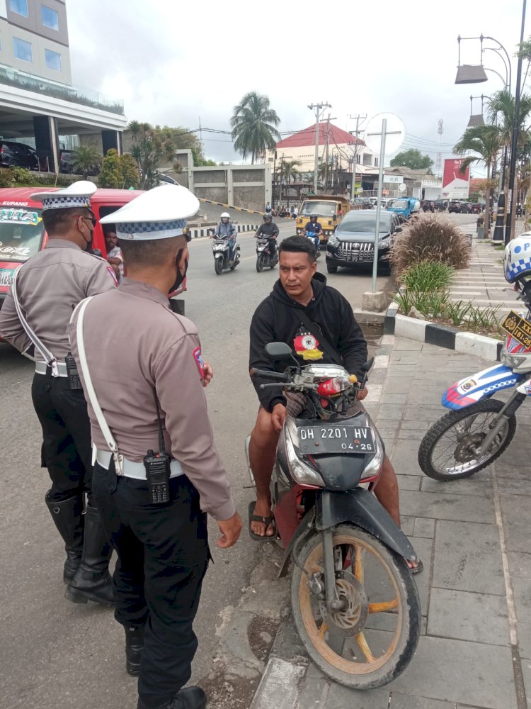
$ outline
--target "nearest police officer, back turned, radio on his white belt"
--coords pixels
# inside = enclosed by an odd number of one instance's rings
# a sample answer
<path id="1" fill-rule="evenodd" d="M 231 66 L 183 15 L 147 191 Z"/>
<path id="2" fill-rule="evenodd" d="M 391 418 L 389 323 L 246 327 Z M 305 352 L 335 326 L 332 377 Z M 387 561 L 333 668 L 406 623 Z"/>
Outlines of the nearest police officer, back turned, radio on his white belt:
<path id="1" fill-rule="evenodd" d="M 210 558 L 206 513 L 219 525 L 219 547 L 241 530 L 207 415 L 212 369 L 197 328 L 168 300 L 184 276 L 185 217 L 198 208 L 187 189 L 166 184 L 103 218 L 116 225 L 127 276 L 72 318 L 97 450 L 93 490 L 118 552 L 115 618 L 125 627 L 126 669 L 139 674 L 138 709 L 205 707 L 202 689 L 183 687 Z"/>

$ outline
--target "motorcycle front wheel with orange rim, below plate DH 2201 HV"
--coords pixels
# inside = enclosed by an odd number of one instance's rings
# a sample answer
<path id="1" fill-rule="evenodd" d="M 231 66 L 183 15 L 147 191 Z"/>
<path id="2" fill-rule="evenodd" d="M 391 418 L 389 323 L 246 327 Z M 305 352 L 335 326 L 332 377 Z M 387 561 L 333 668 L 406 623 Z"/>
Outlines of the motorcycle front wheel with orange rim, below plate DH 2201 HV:
<path id="1" fill-rule="evenodd" d="M 333 528 L 338 598 L 329 613 L 324 593 L 321 535 L 298 554 L 291 598 L 295 625 L 309 656 L 331 679 L 355 689 L 381 687 L 406 669 L 421 634 L 421 602 L 405 560 L 375 537 L 349 524 Z M 307 576 L 309 574 L 309 577 Z"/>

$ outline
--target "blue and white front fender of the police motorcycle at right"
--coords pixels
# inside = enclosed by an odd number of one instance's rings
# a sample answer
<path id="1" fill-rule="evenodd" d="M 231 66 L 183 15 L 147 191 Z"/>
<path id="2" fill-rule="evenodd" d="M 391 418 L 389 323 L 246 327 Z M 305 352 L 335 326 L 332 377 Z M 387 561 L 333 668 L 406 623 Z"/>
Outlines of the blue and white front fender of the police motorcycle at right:
<path id="1" fill-rule="evenodd" d="M 483 369 L 472 376 L 459 379 L 442 395 L 442 406 L 459 409 L 471 406 L 486 396 L 492 396 L 496 391 L 509 389 L 520 379 L 513 369 L 505 364 L 495 364 L 494 367 Z"/>

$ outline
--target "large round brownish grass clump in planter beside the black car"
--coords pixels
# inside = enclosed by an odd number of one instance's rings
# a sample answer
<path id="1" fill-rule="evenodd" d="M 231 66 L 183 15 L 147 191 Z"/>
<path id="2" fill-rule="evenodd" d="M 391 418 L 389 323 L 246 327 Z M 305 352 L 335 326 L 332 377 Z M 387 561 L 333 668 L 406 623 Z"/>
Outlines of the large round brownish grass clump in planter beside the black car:
<path id="1" fill-rule="evenodd" d="M 462 269 L 470 262 L 469 241 L 447 217 L 422 214 L 394 239 L 391 260 L 397 274 L 420 261 L 438 261 Z"/>

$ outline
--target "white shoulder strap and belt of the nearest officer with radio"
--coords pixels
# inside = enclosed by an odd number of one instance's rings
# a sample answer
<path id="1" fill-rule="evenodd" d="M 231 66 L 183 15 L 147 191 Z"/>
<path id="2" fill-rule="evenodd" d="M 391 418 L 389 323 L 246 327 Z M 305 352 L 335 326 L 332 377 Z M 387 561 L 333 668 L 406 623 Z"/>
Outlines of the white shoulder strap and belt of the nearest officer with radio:
<path id="1" fill-rule="evenodd" d="M 117 475 L 123 475 L 127 478 L 135 478 L 137 480 L 145 480 L 147 479 L 147 476 L 144 464 L 128 460 L 118 450 L 118 445 L 116 444 L 115 438 L 108 426 L 107 421 L 105 420 L 105 416 L 103 415 L 103 411 L 101 410 L 101 406 L 98 401 L 98 396 L 96 396 L 96 390 L 94 389 L 94 386 L 92 384 L 91 373 L 89 372 L 89 364 L 86 361 L 85 341 L 83 337 L 83 320 L 85 317 L 85 310 L 86 306 L 89 305 L 89 302 L 92 300 L 92 298 L 93 296 L 90 296 L 90 298 L 85 298 L 84 301 L 81 301 L 81 303 L 79 303 L 79 305 L 74 310 L 74 313 L 72 313 L 72 318 L 74 318 L 74 315 L 76 314 L 79 308 L 79 317 L 77 318 L 76 324 L 76 336 L 77 350 L 79 353 L 79 364 L 81 365 L 81 372 L 83 372 L 85 380 L 84 389 L 86 396 L 89 397 L 89 401 L 91 402 L 94 414 L 96 415 L 96 420 L 98 421 L 98 425 L 101 429 L 101 432 L 103 433 L 103 437 L 105 438 L 105 442 L 107 443 L 109 449 L 100 450 L 96 448 L 96 446 L 94 446 L 93 462 L 94 460 L 97 460 L 102 467 L 108 469 L 110 465 L 110 459 L 113 458 Z M 72 322 L 72 318 L 70 322 Z M 182 474 L 183 469 L 181 467 L 181 463 L 179 463 L 178 460 L 172 460 L 170 464 L 170 477 L 174 478 Z"/>

